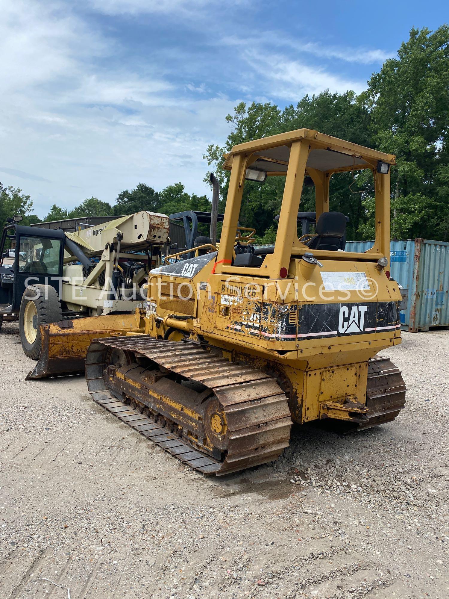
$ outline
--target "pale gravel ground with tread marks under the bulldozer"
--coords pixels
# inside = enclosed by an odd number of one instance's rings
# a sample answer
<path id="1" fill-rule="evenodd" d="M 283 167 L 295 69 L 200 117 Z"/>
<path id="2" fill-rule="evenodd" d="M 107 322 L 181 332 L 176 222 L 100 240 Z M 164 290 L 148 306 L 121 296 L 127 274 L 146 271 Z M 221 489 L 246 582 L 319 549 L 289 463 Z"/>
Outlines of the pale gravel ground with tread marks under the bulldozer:
<path id="1" fill-rule="evenodd" d="M 278 462 L 225 479 L 95 406 L 83 377 L 25 382 L 16 323 L 0 349 L 0 597 L 448 597 L 449 331 L 383 352 L 408 387 L 395 423 L 296 426 Z"/>

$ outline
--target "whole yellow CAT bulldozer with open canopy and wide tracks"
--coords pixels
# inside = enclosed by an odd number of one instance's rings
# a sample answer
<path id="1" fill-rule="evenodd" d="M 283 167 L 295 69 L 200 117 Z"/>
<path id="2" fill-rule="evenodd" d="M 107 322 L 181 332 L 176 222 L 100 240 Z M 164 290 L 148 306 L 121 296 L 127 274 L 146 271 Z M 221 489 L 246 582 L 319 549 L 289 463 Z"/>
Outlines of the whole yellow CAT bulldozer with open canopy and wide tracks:
<path id="1" fill-rule="evenodd" d="M 127 317 L 128 329 L 92 340 L 93 400 L 217 475 L 277 459 L 293 422 L 332 419 L 348 431 L 394 420 L 404 380 L 377 356 L 401 343 L 401 294 L 389 272 L 394 164 L 393 155 L 310 129 L 233 147 L 219 248 L 204 243 L 198 255 L 153 269 L 145 310 Z M 369 171 L 375 190 L 375 242 L 365 253 L 345 252 L 346 217 L 329 210 L 330 178 L 355 170 Z M 268 176 L 284 178 L 277 237 L 256 247 L 238 227 L 242 194 L 245 181 Z M 298 235 L 306 177 L 315 232 Z M 45 325 L 50 352 L 69 361 L 113 318 L 83 319 L 72 332 Z"/>

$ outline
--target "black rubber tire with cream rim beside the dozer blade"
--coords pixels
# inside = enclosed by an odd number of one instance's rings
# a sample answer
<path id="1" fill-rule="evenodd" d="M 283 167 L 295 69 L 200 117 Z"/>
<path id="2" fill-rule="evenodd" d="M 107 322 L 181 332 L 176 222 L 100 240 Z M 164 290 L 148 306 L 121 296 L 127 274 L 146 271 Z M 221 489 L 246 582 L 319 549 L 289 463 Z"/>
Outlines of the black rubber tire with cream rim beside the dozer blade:
<path id="1" fill-rule="evenodd" d="M 47 299 L 45 299 L 45 295 L 47 295 Z M 37 311 L 37 335 L 34 343 L 28 343 L 23 324 L 26 305 L 31 301 L 34 302 Z M 23 353 L 28 358 L 37 360 L 41 353 L 40 325 L 47 325 L 59 320 L 62 320 L 62 308 L 56 289 L 50 285 L 29 285 L 22 296 L 19 310 L 20 341 L 22 341 Z"/>

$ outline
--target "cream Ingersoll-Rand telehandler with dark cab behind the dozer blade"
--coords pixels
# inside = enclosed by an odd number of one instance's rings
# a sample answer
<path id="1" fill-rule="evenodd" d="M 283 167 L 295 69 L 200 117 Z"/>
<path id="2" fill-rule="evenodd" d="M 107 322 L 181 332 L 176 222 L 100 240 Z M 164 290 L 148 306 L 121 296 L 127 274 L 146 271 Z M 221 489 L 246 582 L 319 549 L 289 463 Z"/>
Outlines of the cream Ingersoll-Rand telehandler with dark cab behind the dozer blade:
<path id="1" fill-rule="evenodd" d="M 135 322 L 140 286 L 160 264 L 168 216 L 141 211 L 72 231 L 23 226 L 21 216 L 9 220 L 0 247 L 14 240 L 16 255 L 12 268 L 0 263 L 0 315 L 17 314 L 26 356 L 40 355 L 40 325 L 63 321 L 69 329 L 99 314 L 115 315 L 112 330 L 126 326 L 127 316 Z M 71 372 L 84 369 L 84 357 L 80 365 L 72 360 Z"/>

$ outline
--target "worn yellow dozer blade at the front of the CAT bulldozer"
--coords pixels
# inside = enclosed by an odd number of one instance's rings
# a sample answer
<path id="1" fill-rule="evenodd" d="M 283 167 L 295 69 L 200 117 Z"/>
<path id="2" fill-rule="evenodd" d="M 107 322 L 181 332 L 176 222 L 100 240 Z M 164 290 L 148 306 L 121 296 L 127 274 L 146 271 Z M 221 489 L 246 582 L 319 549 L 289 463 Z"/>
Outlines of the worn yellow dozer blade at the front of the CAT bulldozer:
<path id="1" fill-rule="evenodd" d="M 107 314 L 41 325 L 41 353 L 26 380 L 84 374 L 87 348 L 93 339 L 143 333 L 139 308 L 134 314 Z"/>

